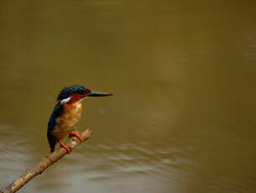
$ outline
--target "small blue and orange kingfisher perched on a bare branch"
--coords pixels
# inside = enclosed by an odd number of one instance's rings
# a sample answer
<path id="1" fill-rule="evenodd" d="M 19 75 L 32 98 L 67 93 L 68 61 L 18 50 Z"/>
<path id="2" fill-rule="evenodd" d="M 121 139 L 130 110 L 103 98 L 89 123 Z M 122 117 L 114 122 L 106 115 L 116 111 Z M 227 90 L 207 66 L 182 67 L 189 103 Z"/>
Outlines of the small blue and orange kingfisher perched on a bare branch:
<path id="1" fill-rule="evenodd" d="M 75 132 L 76 124 L 81 118 L 81 102 L 86 97 L 107 97 L 111 93 L 91 91 L 85 86 L 71 85 L 63 88 L 58 97 L 57 104 L 50 115 L 47 128 L 47 138 L 50 145 L 50 153 L 55 151 L 56 143 L 66 149 L 71 154 L 71 149 L 60 140 L 67 134 L 70 137 L 76 136 L 81 140 L 81 136 Z"/>

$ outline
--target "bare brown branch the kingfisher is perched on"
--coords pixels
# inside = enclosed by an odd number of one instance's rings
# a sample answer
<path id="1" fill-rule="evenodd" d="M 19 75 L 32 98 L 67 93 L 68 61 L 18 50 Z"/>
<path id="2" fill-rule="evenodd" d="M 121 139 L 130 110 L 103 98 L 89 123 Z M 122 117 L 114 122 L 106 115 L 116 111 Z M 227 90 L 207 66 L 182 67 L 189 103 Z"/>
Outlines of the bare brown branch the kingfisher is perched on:
<path id="1" fill-rule="evenodd" d="M 91 138 L 91 135 L 92 132 L 89 129 L 86 129 L 83 133 L 81 133 L 81 142 L 78 138 L 72 137 L 65 143 L 65 145 L 71 149 L 75 149 L 77 145 L 86 141 L 88 138 Z M 62 159 L 65 154 L 67 154 L 66 150 L 64 148 L 60 148 L 55 150 L 55 152 L 52 154 L 44 156 L 44 158 L 41 159 L 38 164 L 35 164 L 33 168 L 26 170 L 24 175 L 21 175 L 17 180 L 13 181 L 13 183 L 8 185 L 8 187 L 5 189 L 0 190 L 0 193 L 16 192 L 22 186 L 32 180 L 36 175 L 42 174 L 43 171 L 46 170 L 51 164 L 55 164 L 56 161 Z"/>

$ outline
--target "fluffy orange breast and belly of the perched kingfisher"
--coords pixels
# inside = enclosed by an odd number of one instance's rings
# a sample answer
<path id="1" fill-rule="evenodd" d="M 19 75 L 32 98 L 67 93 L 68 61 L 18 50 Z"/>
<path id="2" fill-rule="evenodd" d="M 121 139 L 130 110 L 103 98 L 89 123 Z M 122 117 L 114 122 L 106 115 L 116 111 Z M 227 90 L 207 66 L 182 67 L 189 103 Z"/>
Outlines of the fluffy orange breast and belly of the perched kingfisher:
<path id="1" fill-rule="evenodd" d="M 64 110 L 60 117 L 56 118 L 56 125 L 52 134 L 58 139 L 64 138 L 73 131 L 81 117 L 81 103 L 64 104 Z"/>

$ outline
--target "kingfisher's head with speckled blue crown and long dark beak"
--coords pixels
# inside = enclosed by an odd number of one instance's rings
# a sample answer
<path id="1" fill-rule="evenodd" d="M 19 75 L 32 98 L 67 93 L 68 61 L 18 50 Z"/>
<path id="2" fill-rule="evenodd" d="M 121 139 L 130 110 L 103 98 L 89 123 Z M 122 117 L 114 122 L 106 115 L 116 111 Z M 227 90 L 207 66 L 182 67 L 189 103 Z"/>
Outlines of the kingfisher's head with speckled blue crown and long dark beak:
<path id="1" fill-rule="evenodd" d="M 85 86 L 71 85 L 63 88 L 57 98 L 60 103 L 81 102 L 85 97 L 107 97 L 112 96 L 110 93 L 91 91 Z"/>

